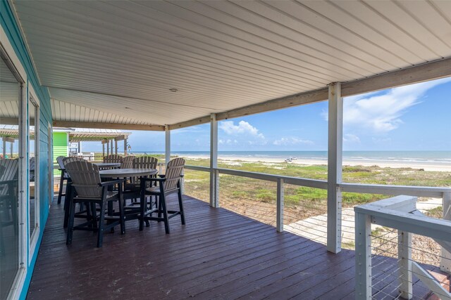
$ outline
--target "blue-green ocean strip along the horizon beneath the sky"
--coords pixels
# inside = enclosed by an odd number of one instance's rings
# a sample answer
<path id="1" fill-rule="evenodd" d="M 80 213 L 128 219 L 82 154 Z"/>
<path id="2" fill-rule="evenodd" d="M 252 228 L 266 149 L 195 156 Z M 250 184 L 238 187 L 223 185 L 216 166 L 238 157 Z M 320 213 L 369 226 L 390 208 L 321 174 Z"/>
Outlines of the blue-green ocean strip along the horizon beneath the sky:
<path id="1" fill-rule="evenodd" d="M 171 154 L 204 156 L 209 155 L 209 151 L 174 151 Z M 297 159 L 315 159 L 326 162 L 327 151 L 218 151 L 218 157 L 258 157 L 261 159 L 296 157 Z M 343 151 L 343 159 L 350 161 L 451 164 L 451 151 Z"/>

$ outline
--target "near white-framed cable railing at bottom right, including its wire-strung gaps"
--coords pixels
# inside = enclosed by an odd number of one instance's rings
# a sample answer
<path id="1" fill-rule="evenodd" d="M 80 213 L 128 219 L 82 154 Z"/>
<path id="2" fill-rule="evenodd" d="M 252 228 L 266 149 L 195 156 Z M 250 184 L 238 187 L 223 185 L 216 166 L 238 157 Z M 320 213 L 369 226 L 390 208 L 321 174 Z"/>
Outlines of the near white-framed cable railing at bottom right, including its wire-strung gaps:
<path id="1" fill-rule="evenodd" d="M 357 299 L 430 299 L 431 293 L 451 299 L 444 272 L 451 266 L 451 221 L 424 215 L 416 203 L 402 195 L 354 208 Z"/>

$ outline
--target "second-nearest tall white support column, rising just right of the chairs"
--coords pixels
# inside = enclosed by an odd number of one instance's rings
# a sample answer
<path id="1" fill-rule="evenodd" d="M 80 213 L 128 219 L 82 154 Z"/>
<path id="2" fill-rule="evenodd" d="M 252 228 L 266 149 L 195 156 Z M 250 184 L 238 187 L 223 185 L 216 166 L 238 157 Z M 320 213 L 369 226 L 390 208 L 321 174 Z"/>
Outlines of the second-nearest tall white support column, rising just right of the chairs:
<path id="1" fill-rule="evenodd" d="M 210 206 L 219 207 L 218 121 L 216 114 L 210 118 Z"/>

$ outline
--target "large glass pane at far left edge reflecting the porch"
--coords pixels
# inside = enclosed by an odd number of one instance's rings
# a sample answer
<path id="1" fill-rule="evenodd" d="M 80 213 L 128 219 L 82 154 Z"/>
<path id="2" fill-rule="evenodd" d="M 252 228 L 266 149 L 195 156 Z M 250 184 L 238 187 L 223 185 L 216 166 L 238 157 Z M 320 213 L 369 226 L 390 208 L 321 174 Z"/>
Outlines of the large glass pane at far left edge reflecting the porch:
<path id="1" fill-rule="evenodd" d="M 19 269 L 18 174 L 21 87 L 0 59 L 0 299 L 6 299 Z"/>

